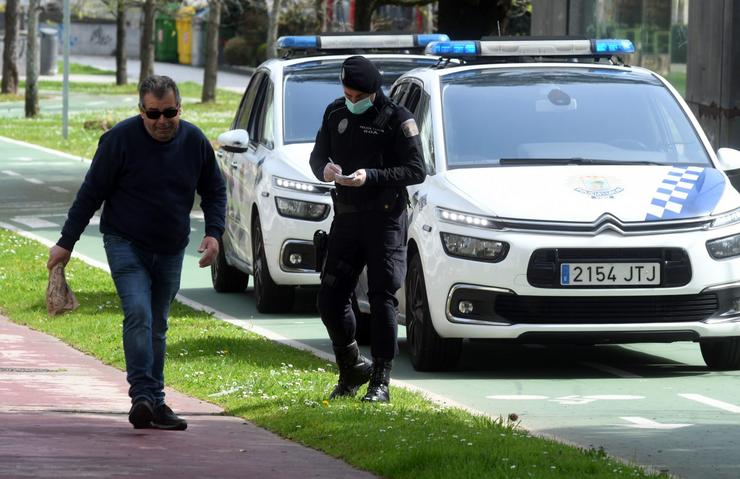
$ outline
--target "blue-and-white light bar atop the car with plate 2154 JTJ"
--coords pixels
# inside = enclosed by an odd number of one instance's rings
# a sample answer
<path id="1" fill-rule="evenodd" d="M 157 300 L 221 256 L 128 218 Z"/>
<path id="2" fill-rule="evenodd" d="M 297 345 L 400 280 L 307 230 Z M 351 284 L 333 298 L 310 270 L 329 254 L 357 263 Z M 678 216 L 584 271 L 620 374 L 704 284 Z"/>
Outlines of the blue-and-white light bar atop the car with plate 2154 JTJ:
<path id="1" fill-rule="evenodd" d="M 452 58 L 518 56 L 610 56 L 634 53 L 629 40 L 464 40 L 434 42 L 425 52 Z"/>

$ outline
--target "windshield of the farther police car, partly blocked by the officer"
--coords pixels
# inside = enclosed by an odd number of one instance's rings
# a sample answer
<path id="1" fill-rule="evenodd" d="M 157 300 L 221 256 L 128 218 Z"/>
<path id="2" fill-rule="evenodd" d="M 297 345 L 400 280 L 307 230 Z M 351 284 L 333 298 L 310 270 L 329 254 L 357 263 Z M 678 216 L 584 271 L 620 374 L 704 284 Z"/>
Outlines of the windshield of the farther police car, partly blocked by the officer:
<path id="1" fill-rule="evenodd" d="M 288 143 L 308 143 L 316 139 L 326 107 L 342 96 L 339 82 L 339 60 L 317 60 L 286 67 L 284 109 L 284 138 Z M 407 71 L 430 66 L 436 58 L 372 59 L 383 75 L 383 91 L 387 94 L 396 79 Z"/>

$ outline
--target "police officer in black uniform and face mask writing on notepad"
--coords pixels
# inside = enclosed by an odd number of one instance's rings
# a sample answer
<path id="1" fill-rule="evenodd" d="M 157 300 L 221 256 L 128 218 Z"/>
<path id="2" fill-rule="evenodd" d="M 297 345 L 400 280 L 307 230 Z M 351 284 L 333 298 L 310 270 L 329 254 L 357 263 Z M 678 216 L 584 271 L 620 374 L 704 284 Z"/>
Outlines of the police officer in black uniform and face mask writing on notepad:
<path id="1" fill-rule="evenodd" d="M 370 382 L 363 401 L 388 402 L 398 347 L 395 293 L 406 274 L 406 186 L 424 181 L 419 131 L 411 113 L 381 90 L 367 58 L 352 56 L 340 74 L 344 96 L 324 112 L 311 169 L 334 181 L 334 220 L 318 307 L 339 367 L 331 398 L 352 397 Z M 367 265 L 372 363 L 355 341 L 351 296 Z"/>

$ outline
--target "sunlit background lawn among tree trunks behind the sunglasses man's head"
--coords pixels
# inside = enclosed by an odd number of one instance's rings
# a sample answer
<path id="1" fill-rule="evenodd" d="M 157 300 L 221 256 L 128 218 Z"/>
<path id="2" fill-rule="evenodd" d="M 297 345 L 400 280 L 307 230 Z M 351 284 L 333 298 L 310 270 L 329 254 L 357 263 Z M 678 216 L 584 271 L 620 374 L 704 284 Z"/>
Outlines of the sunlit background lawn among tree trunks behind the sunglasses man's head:
<path id="1" fill-rule="evenodd" d="M 21 84 L 25 88 L 25 84 Z M 200 98 L 201 86 L 195 82 L 178 85 L 183 98 Z M 61 91 L 61 82 L 42 81 L 39 89 Z M 115 95 L 136 95 L 136 85 L 116 86 L 112 84 L 72 83 L 73 92 Z M 22 95 L 21 95 L 22 97 Z M 185 103 L 182 118 L 197 125 L 206 136 L 215 142 L 218 135 L 229 128 L 239 106 L 241 95 L 228 90 L 218 90 L 215 103 Z M 37 118 L 3 118 L 0 121 L 0 136 L 27 141 L 37 145 L 65 151 L 83 158 L 92 158 L 104 127 L 110 128 L 117 122 L 138 114 L 136 109 L 119 108 L 97 110 L 70 115 L 68 138 L 62 137 L 61 115 L 48 115 L 42 111 Z"/>

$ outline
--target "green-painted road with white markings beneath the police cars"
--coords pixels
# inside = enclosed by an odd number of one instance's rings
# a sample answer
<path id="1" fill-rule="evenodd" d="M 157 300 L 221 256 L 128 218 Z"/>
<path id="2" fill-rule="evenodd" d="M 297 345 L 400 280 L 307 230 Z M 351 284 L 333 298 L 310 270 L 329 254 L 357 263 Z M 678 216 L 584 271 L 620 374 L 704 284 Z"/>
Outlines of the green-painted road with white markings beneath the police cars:
<path id="1" fill-rule="evenodd" d="M 88 163 L 0 138 L 0 227 L 56 241 Z M 102 241 L 88 227 L 76 247 L 105 267 Z M 181 297 L 217 317 L 327 356 L 330 344 L 310 294 L 296 311 L 261 315 L 250 290 L 218 294 L 195 251 L 203 221 L 193 215 Z M 395 381 L 493 417 L 686 478 L 740 477 L 740 372 L 710 372 L 692 343 L 635 346 L 465 345 L 459 368 L 418 373 L 405 338 Z"/>

